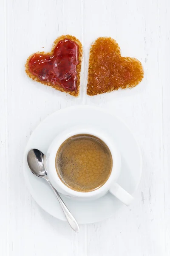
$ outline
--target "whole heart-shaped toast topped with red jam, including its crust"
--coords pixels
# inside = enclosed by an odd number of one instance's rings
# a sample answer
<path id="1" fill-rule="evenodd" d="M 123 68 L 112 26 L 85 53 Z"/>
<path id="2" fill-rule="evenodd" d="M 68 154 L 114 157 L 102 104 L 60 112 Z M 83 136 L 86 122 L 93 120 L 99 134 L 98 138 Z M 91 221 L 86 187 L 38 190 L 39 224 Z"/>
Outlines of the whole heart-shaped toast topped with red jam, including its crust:
<path id="1" fill-rule="evenodd" d="M 51 52 L 37 52 L 26 61 L 26 73 L 34 81 L 79 95 L 82 44 L 71 35 L 54 41 Z"/>

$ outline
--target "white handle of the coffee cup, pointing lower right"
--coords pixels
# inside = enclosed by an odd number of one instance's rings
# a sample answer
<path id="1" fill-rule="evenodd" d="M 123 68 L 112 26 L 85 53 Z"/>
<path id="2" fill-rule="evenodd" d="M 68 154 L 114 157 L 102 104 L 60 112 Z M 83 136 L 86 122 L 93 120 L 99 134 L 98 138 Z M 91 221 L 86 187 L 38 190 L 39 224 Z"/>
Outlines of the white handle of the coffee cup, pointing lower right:
<path id="1" fill-rule="evenodd" d="M 113 183 L 109 191 L 126 206 L 129 206 L 134 199 L 133 196 L 123 189 L 118 183 Z"/>

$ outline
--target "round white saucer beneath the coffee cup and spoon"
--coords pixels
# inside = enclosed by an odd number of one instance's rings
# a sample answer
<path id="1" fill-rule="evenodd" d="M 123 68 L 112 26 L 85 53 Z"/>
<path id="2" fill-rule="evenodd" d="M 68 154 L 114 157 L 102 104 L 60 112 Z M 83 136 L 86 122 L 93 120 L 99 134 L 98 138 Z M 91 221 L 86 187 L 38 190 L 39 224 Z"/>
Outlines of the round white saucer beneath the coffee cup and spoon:
<path id="1" fill-rule="evenodd" d="M 27 143 L 24 154 L 24 176 L 28 189 L 46 212 L 59 220 L 66 221 L 62 209 L 48 183 L 33 175 L 27 164 L 27 152 L 38 148 L 44 154 L 57 134 L 68 127 L 90 124 L 99 127 L 113 137 L 122 157 L 122 169 L 118 183 L 133 194 L 139 184 L 142 172 L 142 158 L 138 144 L 127 126 L 117 117 L 92 106 L 65 108 L 48 116 L 38 125 Z M 62 197 L 79 224 L 102 221 L 116 214 L 123 204 L 108 193 L 95 201 L 74 201 Z"/>

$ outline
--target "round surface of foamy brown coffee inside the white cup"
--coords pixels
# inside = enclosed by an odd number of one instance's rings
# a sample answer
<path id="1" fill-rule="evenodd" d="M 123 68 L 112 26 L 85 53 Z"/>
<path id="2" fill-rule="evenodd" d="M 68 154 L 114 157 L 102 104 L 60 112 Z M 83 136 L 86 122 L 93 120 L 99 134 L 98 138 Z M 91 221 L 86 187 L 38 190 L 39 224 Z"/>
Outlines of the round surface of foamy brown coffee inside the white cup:
<path id="1" fill-rule="evenodd" d="M 60 180 L 78 192 L 98 189 L 111 175 L 113 160 L 108 146 L 89 134 L 78 134 L 65 140 L 56 155 Z"/>

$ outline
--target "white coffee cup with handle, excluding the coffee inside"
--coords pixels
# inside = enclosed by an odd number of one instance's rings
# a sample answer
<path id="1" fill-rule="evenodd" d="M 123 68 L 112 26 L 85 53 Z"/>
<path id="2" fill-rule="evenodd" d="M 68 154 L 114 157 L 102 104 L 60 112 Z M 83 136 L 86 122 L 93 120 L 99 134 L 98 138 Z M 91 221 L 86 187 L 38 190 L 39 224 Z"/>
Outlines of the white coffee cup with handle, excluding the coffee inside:
<path id="1" fill-rule="evenodd" d="M 64 183 L 62 183 L 56 171 L 55 159 L 56 159 L 56 154 L 60 145 L 62 145 L 62 143 L 68 138 L 77 134 L 90 134 L 98 137 L 108 146 L 113 158 L 113 168 L 112 168 L 110 177 L 108 178 L 108 180 L 105 182 L 104 185 L 99 187 L 99 189 L 96 189 L 91 192 L 78 192 L 69 188 Z M 85 199 L 94 200 L 102 197 L 107 192 L 111 192 L 111 194 L 116 196 L 116 198 L 118 198 L 127 206 L 130 205 L 130 203 L 133 201 L 133 196 L 130 195 L 128 192 L 126 192 L 125 189 L 123 189 L 117 183 L 117 180 L 120 174 L 120 169 L 121 169 L 121 157 L 120 157 L 119 151 L 116 148 L 116 145 L 114 145 L 113 141 L 107 134 L 103 133 L 102 131 L 94 129 L 93 127 L 86 127 L 86 128 L 72 127 L 58 134 L 48 148 L 45 164 L 48 172 L 48 177 L 52 185 L 54 186 L 55 189 L 57 189 L 59 193 L 62 193 L 65 196 L 68 196 L 71 198 L 77 198 L 77 199 L 79 198 L 82 200 L 85 200 Z"/>

